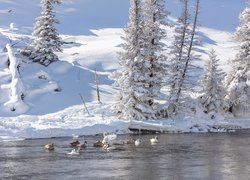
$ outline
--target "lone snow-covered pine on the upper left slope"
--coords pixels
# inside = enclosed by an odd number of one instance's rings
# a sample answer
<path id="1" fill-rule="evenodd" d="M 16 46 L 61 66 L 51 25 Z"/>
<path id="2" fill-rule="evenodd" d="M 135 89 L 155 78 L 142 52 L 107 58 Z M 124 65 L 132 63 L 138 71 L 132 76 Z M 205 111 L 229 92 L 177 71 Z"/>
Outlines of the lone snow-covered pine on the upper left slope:
<path id="1" fill-rule="evenodd" d="M 55 28 L 59 21 L 55 18 L 53 5 L 60 3 L 61 0 L 41 0 L 42 11 L 36 19 L 33 42 L 30 45 L 32 52 L 29 57 L 33 62 L 48 66 L 58 60 L 55 52 L 62 51 L 62 41 Z"/>

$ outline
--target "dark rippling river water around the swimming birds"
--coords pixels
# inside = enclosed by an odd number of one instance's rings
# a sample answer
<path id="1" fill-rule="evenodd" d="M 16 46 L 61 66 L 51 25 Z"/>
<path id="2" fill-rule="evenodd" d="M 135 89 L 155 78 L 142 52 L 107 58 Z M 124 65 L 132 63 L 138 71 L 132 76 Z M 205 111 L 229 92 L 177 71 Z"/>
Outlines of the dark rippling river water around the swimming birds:
<path id="1" fill-rule="evenodd" d="M 92 146 L 101 136 L 85 137 L 88 147 L 80 156 L 66 154 L 71 138 L 0 141 L 0 179 L 250 179 L 250 133 L 158 136 L 154 146 L 154 135 L 141 135 L 140 146 L 109 152 Z M 118 139 L 131 137 L 138 136 Z M 50 142 L 55 151 L 45 152 Z"/>

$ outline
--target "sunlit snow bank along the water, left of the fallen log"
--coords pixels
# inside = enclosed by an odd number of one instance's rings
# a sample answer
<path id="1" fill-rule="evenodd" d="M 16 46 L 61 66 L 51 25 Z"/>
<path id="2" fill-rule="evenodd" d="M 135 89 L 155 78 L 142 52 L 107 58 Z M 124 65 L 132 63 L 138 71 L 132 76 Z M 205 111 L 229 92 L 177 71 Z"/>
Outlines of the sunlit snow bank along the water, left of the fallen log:
<path id="1" fill-rule="evenodd" d="M 108 105 L 99 103 L 86 105 L 90 115 L 83 105 L 78 105 L 43 116 L 1 117 L 0 140 L 128 132 L 128 121 L 116 119 L 109 112 Z"/>

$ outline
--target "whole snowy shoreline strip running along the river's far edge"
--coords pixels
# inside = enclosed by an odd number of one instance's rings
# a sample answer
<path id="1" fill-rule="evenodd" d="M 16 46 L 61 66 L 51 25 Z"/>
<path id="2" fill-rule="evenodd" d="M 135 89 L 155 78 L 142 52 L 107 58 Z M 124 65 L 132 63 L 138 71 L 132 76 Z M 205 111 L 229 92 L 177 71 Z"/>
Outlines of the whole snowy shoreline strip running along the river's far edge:
<path id="1" fill-rule="evenodd" d="M 249 119 L 186 117 L 178 120 L 128 121 L 119 120 L 111 113 L 103 117 L 102 108 L 108 105 L 96 103 L 88 106 L 93 115 L 88 115 L 79 105 L 43 116 L 0 117 L 0 141 L 88 136 L 104 132 L 133 133 L 129 129 L 140 129 L 141 133 L 221 133 L 250 129 Z"/>

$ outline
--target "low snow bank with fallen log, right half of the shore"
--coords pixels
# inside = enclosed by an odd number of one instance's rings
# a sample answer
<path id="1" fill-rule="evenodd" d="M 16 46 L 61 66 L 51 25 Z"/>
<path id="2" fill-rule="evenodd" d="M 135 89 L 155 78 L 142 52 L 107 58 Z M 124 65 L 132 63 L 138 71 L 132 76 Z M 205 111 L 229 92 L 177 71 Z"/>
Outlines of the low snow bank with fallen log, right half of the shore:
<path id="1" fill-rule="evenodd" d="M 235 132 L 249 129 L 249 119 L 209 119 L 185 117 L 175 120 L 131 121 L 128 129 L 141 133 L 207 133 L 207 132 Z"/>

